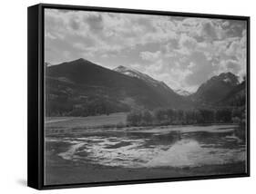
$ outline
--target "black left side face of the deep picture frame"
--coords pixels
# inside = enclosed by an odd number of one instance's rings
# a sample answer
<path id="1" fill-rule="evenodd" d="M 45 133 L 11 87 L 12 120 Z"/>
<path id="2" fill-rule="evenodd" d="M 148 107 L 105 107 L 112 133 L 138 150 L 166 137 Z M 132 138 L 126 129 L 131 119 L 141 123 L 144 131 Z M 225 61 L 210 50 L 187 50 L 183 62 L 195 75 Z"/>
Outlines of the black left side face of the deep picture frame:
<path id="1" fill-rule="evenodd" d="M 27 186 L 42 189 L 38 128 L 39 7 L 27 7 Z"/>

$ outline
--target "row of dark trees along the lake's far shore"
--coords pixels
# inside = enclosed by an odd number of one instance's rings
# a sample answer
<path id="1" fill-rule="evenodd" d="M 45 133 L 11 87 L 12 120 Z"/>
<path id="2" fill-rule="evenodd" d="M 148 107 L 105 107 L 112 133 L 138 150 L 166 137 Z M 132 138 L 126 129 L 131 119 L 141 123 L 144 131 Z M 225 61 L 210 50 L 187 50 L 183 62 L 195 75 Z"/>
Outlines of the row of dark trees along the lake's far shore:
<path id="1" fill-rule="evenodd" d="M 220 109 L 157 109 L 155 111 L 132 111 L 128 113 L 128 126 L 241 123 L 245 117 L 244 107 Z"/>

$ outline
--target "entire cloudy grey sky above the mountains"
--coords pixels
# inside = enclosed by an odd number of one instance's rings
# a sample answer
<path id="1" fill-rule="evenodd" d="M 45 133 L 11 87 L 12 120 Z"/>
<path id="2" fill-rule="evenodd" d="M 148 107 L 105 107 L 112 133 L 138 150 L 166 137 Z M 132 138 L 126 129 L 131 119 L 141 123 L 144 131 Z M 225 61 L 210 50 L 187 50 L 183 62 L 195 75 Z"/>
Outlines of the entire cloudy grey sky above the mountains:
<path id="1" fill-rule="evenodd" d="M 195 92 L 213 75 L 245 75 L 246 34 L 239 20 L 46 9 L 45 62 L 123 65 Z"/>

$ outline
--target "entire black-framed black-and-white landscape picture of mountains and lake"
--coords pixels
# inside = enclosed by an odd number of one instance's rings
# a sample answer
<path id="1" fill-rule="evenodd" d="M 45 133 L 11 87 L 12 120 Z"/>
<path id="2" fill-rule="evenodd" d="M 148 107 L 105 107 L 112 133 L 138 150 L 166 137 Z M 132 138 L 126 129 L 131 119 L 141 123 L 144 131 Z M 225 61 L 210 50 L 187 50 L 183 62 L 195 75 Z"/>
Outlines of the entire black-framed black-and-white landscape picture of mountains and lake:
<path id="1" fill-rule="evenodd" d="M 250 17 L 28 7 L 28 186 L 250 176 Z"/>

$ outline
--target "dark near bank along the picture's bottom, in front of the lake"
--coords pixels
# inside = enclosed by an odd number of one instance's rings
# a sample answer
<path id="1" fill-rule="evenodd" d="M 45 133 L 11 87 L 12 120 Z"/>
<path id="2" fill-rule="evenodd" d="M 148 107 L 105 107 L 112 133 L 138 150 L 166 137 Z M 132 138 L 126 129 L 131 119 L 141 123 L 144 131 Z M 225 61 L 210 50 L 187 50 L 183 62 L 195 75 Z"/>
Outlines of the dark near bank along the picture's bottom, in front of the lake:
<path id="1" fill-rule="evenodd" d="M 62 160 L 62 159 L 60 159 Z M 68 164 L 69 163 L 69 164 Z M 138 179 L 167 179 L 245 173 L 245 161 L 200 167 L 124 168 L 72 161 L 46 162 L 46 184 L 92 183 Z"/>

